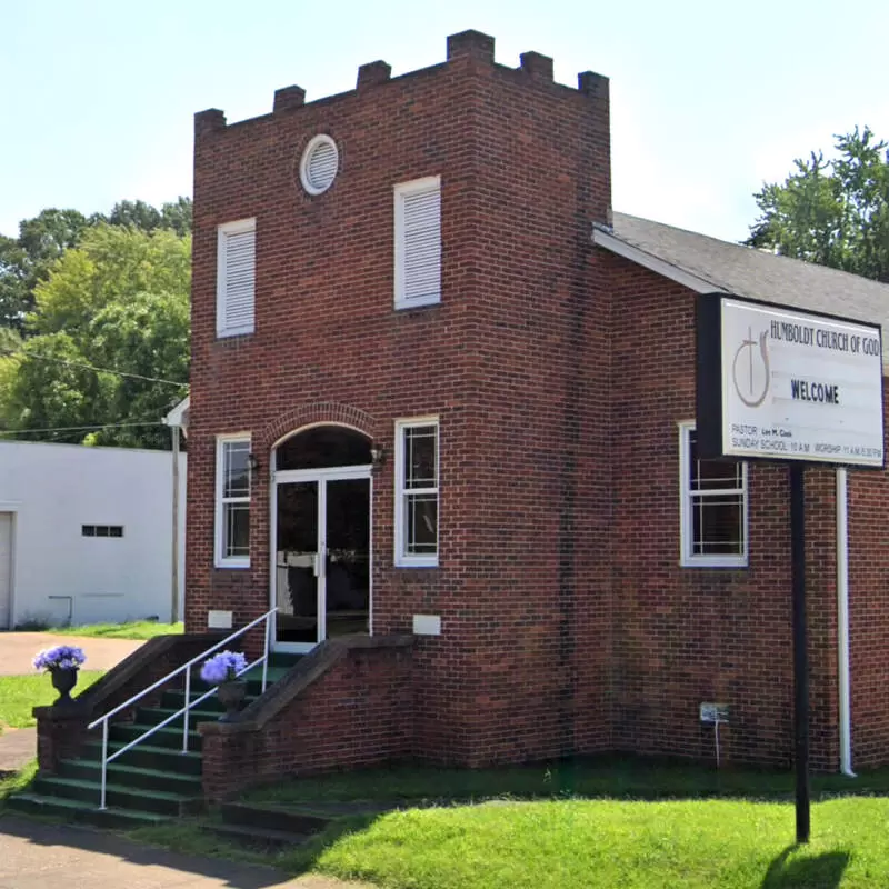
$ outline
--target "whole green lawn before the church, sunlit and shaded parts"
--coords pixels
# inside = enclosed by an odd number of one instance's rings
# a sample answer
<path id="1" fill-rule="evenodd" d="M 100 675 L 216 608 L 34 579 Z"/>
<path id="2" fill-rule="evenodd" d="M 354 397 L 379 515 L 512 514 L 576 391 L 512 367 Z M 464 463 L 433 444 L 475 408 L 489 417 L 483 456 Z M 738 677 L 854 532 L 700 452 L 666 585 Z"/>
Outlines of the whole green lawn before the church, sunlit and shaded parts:
<path id="1" fill-rule="evenodd" d="M 386 889 L 876 889 L 889 887 L 889 798 L 878 796 L 888 791 L 889 769 L 855 780 L 816 777 L 812 841 L 797 848 L 790 772 L 617 757 L 479 770 L 403 766 L 243 795 L 319 811 L 334 802 L 392 807 L 356 811 L 278 855 L 182 825 L 136 837 Z"/>

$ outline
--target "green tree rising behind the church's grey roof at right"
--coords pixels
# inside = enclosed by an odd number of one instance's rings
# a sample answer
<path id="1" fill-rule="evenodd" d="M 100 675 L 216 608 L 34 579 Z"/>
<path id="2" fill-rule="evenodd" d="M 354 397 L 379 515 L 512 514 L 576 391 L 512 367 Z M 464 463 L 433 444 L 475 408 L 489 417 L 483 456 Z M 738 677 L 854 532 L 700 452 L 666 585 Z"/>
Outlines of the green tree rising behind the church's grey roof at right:
<path id="1" fill-rule="evenodd" d="M 751 247 L 889 281 L 889 153 L 871 130 L 837 136 L 837 156 L 795 161 L 755 197 Z"/>

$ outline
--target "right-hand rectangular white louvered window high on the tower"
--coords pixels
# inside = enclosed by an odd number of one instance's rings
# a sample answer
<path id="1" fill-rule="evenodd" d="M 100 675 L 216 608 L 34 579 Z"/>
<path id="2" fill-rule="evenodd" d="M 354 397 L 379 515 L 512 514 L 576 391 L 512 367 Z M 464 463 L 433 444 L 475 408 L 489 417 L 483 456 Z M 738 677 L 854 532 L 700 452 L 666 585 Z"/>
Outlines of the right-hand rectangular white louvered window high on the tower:
<path id="1" fill-rule="evenodd" d="M 441 302 L 441 177 L 396 186 L 396 308 Z"/>

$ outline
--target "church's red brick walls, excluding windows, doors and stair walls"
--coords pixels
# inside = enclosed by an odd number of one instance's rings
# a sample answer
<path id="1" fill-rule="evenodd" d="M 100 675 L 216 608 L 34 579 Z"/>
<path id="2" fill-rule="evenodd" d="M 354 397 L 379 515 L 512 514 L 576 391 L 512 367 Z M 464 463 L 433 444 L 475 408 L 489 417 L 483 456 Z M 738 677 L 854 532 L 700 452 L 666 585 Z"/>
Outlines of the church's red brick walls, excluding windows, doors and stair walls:
<path id="1" fill-rule="evenodd" d="M 269 603 L 276 441 L 346 422 L 393 453 L 397 418 L 440 416 L 440 567 L 392 566 L 393 461 L 373 479 L 376 633 L 419 640 L 414 753 L 480 765 L 605 749 L 710 757 L 701 701 L 726 702 L 729 760 L 787 763 L 792 650 L 787 471 L 749 478 L 750 565 L 679 566 L 677 423 L 693 419 L 693 294 L 590 246 L 610 206 L 607 81 L 551 82 L 535 54 L 449 61 L 224 127 L 197 119 L 189 629 Z M 372 82 L 382 78 L 381 82 Z M 319 133 L 329 192 L 294 184 Z M 392 308 L 392 187 L 442 178 L 442 302 Z M 216 228 L 257 218 L 257 331 L 217 341 Z M 249 570 L 214 570 L 214 440 L 262 462 Z M 851 486 L 856 745 L 889 740 L 881 477 Z M 813 757 L 837 745 L 835 486 L 808 472 Z M 857 529 L 857 530 L 856 530 Z M 885 549 L 885 548 L 880 548 Z"/>

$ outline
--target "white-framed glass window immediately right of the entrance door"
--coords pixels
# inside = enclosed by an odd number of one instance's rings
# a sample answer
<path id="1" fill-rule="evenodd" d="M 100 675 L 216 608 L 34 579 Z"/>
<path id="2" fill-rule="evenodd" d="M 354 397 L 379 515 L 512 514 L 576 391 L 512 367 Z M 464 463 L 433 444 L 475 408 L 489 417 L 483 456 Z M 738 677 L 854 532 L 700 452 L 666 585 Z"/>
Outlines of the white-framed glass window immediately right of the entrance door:
<path id="1" fill-rule="evenodd" d="M 396 423 L 396 565 L 438 565 L 438 418 Z"/>

